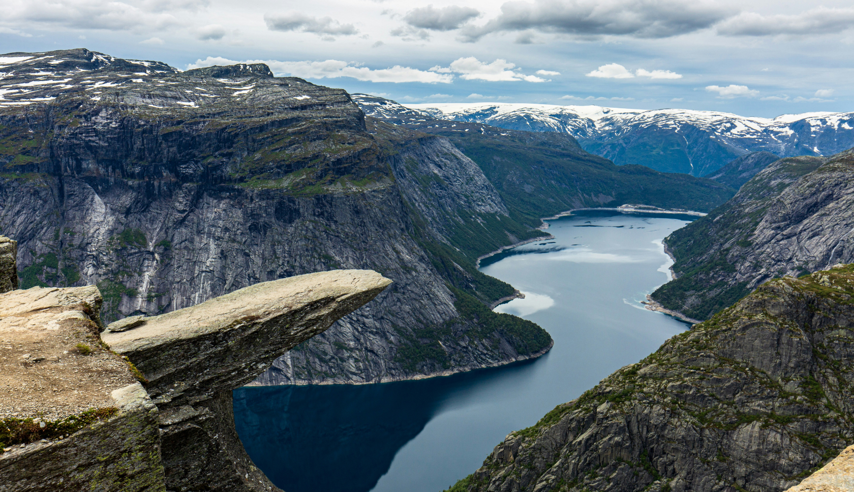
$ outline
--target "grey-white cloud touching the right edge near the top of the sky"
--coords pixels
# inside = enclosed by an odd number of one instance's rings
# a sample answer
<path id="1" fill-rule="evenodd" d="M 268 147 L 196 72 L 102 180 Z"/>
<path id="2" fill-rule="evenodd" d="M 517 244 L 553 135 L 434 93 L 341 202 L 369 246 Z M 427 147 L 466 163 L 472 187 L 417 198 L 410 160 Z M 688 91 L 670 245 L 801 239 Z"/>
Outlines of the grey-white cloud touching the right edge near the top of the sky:
<path id="1" fill-rule="evenodd" d="M 761 15 L 742 12 L 717 24 L 726 36 L 821 35 L 842 32 L 854 26 L 854 9 L 818 7 L 795 15 Z"/>

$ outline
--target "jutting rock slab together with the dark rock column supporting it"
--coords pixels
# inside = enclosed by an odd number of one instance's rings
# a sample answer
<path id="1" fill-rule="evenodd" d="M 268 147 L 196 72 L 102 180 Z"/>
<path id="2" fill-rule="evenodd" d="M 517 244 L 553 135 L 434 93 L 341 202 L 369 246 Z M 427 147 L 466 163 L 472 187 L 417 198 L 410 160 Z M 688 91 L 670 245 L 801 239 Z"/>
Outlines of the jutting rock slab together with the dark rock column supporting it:
<path id="1" fill-rule="evenodd" d="M 149 380 L 146 389 L 160 408 L 167 489 L 278 490 L 243 449 L 231 390 L 389 284 L 371 270 L 309 273 L 146 318 L 129 331 L 102 333 Z"/>

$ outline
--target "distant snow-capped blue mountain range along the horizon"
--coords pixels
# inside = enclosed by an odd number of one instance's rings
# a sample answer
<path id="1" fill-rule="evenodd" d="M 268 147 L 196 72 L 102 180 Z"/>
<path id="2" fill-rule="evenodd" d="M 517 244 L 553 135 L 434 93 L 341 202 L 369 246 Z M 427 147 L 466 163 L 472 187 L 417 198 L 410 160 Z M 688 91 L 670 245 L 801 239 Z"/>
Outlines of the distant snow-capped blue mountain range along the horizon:
<path id="1" fill-rule="evenodd" d="M 688 109 L 624 109 L 513 102 L 410 104 L 434 118 L 511 130 L 565 132 L 616 164 L 705 176 L 750 152 L 831 155 L 854 146 L 854 113 L 776 118 Z"/>

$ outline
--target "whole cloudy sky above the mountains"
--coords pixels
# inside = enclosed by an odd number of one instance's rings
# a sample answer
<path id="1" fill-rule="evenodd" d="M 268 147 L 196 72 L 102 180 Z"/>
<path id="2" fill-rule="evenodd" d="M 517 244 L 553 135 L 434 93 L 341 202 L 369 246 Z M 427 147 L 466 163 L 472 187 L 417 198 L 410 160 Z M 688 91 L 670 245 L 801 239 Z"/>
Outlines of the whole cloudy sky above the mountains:
<path id="1" fill-rule="evenodd" d="M 400 102 L 854 111 L 850 0 L 3 0 L 0 53 L 88 48 Z"/>

